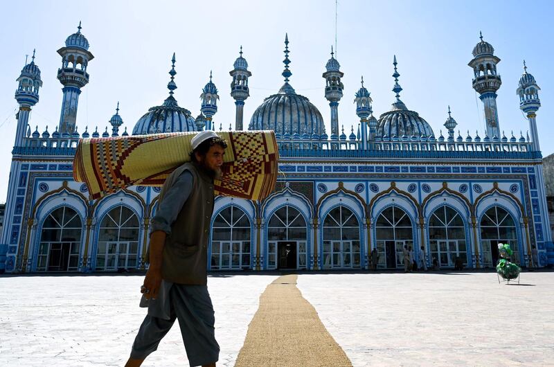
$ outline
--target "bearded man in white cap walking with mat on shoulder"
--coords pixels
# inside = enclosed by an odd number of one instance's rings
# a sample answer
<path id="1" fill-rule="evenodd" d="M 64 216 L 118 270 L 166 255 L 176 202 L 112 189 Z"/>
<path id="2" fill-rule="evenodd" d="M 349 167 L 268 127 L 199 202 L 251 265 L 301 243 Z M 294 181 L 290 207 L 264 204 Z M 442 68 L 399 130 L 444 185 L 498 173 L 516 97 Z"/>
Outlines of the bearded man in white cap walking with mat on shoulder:
<path id="1" fill-rule="evenodd" d="M 191 141 L 190 163 L 170 174 L 150 232 L 150 267 L 141 293 L 148 307 L 125 366 L 141 366 L 179 320 L 190 366 L 215 367 L 214 311 L 208 294 L 207 246 L 213 213 L 213 179 L 221 173 L 226 141 L 204 131 Z"/>

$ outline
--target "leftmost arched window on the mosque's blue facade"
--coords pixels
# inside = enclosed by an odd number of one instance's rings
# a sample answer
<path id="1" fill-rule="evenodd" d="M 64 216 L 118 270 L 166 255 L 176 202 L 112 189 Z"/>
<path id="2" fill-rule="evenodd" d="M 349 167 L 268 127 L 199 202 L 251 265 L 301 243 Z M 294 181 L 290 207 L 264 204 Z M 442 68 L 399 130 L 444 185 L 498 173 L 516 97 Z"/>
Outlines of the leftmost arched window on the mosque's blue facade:
<path id="1" fill-rule="evenodd" d="M 81 231 L 81 218 L 69 206 L 48 214 L 40 234 L 37 271 L 78 270 Z"/>

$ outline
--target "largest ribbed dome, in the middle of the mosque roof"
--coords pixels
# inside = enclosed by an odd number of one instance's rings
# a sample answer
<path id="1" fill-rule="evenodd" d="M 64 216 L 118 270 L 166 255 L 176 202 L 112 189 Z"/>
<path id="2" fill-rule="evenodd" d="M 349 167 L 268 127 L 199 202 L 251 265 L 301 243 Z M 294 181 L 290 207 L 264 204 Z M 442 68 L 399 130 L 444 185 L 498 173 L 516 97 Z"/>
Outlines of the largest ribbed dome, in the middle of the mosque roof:
<path id="1" fill-rule="evenodd" d="M 277 94 L 265 98 L 254 111 L 248 128 L 310 136 L 314 133 L 321 136 L 325 132 L 319 110 L 306 97 L 296 94 L 288 83 Z"/>

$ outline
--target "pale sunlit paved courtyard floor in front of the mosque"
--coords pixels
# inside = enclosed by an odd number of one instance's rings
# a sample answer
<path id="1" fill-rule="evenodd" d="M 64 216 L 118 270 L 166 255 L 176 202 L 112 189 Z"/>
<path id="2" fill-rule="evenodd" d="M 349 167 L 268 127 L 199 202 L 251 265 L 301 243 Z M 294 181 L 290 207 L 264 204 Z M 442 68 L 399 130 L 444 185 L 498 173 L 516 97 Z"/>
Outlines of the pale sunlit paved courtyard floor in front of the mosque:
<path id="1" fill-rule="evenodd" d="M 278 274 L 211 276 L 218 366 L 234 366 Z M 1 366 L 123 366 L 142 276 L 2 276 Z M 554 273 L 300 274 L 352 366 L 554 366 Z M 294 342 L 294 341 L 291 341 Z M 187 366 L 174 327 L 144 366 Z M 262 367 L 262 366 L 260 366 Z"/>

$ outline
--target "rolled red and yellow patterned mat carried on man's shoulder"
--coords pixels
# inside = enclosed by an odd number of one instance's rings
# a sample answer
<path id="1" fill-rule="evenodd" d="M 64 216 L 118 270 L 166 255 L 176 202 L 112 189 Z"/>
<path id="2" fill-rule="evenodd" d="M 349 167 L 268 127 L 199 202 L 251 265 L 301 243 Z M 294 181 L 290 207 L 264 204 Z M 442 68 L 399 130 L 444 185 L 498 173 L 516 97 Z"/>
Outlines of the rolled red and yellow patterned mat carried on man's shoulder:
<path id="1" fill-rule="evenodd" d="M 195 132 L 81 139 L 73 179 L 87 183 L 91 199 L 134 185 L 163 186 L 190 161 Z M 215 195 L 265 199 L 275 188 L 279 152 L 273 131 L 218 132 L 227 141 Z"/>

